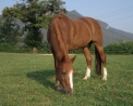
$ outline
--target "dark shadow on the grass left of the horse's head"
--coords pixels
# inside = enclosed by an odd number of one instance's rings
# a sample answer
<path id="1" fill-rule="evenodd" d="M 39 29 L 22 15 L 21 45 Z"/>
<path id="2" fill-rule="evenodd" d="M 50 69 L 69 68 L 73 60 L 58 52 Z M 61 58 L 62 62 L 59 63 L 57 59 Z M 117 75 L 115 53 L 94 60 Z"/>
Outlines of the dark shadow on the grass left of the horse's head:
<path id="1" fill-rule="evenodd" d="M 55 83 L 50 80 L 51 78 L 55 77 L 55 70 L 52 69 L 27 72 L 26 76 L 33 80 L 36 80 L 37 82 L 45 85 L 46 88 L 55 89 Z"/>

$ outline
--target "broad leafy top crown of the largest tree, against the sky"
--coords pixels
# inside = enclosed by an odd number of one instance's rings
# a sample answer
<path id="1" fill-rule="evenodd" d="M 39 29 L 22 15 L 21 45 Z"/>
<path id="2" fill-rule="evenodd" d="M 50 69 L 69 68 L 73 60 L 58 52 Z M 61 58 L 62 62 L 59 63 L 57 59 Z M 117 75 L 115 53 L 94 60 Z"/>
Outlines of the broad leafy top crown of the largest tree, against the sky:
<path id="1" fill-rule="evenodd" d="M 5 8 L 2 16 L 7 19 L 21 19 L 23 23 L 34 27 L 47 27 L 51 16 L 59 12 L 66 12 L 62 0 L 23 0 L 12 8 Z M 43 24 L 44 23 L 44 24 Z"/>

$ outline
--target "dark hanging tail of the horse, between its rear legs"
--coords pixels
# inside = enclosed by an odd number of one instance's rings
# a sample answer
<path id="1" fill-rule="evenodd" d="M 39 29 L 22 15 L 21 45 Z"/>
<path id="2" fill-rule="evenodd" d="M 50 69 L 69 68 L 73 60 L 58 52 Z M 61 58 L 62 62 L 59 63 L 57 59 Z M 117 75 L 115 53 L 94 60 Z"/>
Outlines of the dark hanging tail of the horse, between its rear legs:
<path id="1" fill-rule="evenodd" d="M 101 58 L 95 47 L 95 71 L 97 75 L 101 75 Z"/>

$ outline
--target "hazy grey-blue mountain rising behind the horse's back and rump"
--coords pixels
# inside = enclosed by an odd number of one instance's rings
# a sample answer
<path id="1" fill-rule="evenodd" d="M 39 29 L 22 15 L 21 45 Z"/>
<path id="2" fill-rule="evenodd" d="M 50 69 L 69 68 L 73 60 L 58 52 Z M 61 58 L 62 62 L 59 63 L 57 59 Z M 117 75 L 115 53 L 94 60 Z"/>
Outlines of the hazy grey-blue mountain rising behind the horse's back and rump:
<path id="1" fill-rule="evenodd" d="M 70 18 L 78 18 L 83 17 L 80 13 L 75 10 L 68 12 L 66 15 Z M 120 41 L 130 41 L 133 40 L 133 34 L 125 32 L 116 28 L 110 27 L 107 23 L 98 21 L 104 32 L 104 47 L 110 43 L 119 43 Z"/>

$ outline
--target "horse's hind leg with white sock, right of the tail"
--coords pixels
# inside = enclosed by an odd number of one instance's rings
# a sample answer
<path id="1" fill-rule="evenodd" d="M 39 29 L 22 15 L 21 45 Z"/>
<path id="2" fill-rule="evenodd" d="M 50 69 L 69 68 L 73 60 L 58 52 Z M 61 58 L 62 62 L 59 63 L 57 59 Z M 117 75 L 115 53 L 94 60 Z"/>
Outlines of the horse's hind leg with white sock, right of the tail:
<path id="1" fill-rule="evenodd" d="M 104 49 L 101 45 L 96 44 L 96 49 L 100 55 L 101 62 L 102 62 L 102 67 L 104 67 L 104 76 L 102 76 L 102 80 L 107 80 L 107 66 L 106 66 L 106 55 L 104 52 Z"/>

